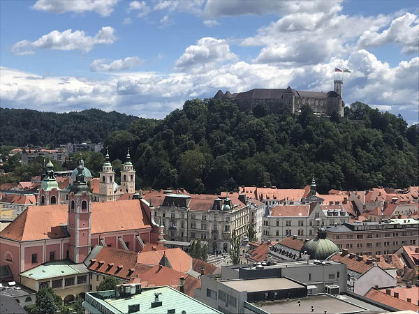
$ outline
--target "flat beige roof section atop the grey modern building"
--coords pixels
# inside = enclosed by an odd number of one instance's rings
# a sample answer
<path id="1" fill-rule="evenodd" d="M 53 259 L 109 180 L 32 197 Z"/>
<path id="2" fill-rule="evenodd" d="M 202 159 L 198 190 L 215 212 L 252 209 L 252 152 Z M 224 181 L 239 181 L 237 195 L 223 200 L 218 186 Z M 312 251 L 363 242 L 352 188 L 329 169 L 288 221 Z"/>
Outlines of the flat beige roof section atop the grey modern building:
<path id="1" fill-rule="evenodd" d="M 300 285 L 300 283 L 291 281 L 288 278 L 260 278 L 249 280 L 221 281 L 221 283 L 227 287 L 233 288 L 234 290 L 247 292 L 295 289 L 305 287 L 305 285 Z"/>

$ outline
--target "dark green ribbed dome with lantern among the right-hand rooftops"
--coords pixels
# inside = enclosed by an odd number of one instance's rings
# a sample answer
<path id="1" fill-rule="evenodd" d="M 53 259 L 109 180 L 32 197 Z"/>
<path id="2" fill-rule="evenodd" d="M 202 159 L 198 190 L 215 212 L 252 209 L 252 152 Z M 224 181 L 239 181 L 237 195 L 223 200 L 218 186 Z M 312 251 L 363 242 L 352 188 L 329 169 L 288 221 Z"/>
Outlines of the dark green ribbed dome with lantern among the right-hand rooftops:
<path id="1" fill-rule="evenodd" d="M 340 248 L 332 240 L 327 238 L 325 228 L 321 227 L 317 237 L 304 243 L 300 253 L 307 252 L 311 260 L 325 260 L 333 253 L 340 252 Z"/>

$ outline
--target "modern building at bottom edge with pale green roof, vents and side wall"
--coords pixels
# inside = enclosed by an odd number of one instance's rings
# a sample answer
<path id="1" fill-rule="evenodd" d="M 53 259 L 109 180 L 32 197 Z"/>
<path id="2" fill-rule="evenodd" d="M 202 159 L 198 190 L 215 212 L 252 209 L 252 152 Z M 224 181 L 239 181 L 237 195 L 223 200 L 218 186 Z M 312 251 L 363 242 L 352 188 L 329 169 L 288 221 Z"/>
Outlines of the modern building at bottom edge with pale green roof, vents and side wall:
<path id="1" fill-rule="evenodd" d="M 120 285 L 117 290 L 89 292 L 82 305 L 86 313 L 91 314 L 221 313 L 172 287 L 142 288 L 140 284 Z"/>

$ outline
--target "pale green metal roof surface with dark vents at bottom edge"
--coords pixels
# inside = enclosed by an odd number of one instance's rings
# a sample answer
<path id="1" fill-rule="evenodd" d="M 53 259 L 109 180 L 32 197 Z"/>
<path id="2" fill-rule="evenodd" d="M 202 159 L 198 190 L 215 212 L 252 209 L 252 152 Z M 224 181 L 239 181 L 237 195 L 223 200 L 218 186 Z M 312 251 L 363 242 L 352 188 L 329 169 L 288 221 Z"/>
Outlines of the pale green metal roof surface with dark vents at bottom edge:
<path id="1" fill-rule="evenodd" d="M 202 302 L 189 297 L 182 292 L 179 292 L 172 287 L 154 287 L 154 288 L 145 288 L 141 293 L 133 295 L 131 298 L 127 299 L 124 297 L 117 298 L 114 297 L 110 299 L 102 299 L 101 294 L 109 294 L 111 291 L 106 292 L 89 292 L 86 293 L 86 301 L 83 302 L 85 308 L 93 310 L 93 306 L 89 303 L 91 299 L 104 306 L 112 313 L 128 313 L 128 305 L 131 304 L 140 304 L 140 311 L 134 312 L 137 314 L 147 313 L 147 314 L 167 314 L 168 310 L 175 309 L 175 313 L 203 313 L 203 314 L 212 314 L 212 313 L 221 313 L 216 311 L 214 308 L 203 304 Z M 151 307 L 152 302 L 154 301 L 154 293 L 161 293 L 159 295 L 159 301 L 162 302 L 161 306 L 155 308 Z M 91 298 L 91 299 L 90 299 Z M 97 308 L 96 308 L 97 311 Z M 101 313 L 101 312 L 92 312 L 91 313 Z"/>

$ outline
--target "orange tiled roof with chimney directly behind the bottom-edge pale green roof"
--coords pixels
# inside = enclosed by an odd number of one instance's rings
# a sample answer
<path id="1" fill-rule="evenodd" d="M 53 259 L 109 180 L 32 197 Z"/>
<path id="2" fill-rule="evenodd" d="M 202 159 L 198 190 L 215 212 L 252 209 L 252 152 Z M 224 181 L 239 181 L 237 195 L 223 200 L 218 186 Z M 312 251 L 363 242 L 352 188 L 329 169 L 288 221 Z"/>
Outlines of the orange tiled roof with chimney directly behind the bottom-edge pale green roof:
<path id="1" fill-rule="evenodd" d="M 131 280 L 132 283 L 141 283 L 141 287 L 155 287 L 161 285 L 168 285 L 176 290 L 180 290 L 180 277 L 184 277 L 184 293 L 193 297 L 193 290 L 200 288 L 200 279 L 193 276 L 183 274 L 169 267 L 157 265 L 152 267 L 144 274 Z"/>

